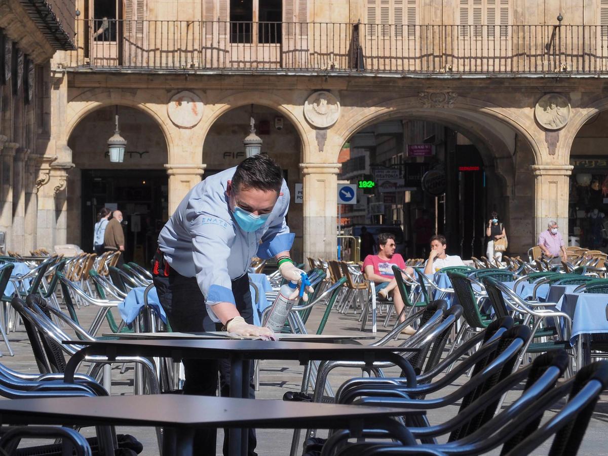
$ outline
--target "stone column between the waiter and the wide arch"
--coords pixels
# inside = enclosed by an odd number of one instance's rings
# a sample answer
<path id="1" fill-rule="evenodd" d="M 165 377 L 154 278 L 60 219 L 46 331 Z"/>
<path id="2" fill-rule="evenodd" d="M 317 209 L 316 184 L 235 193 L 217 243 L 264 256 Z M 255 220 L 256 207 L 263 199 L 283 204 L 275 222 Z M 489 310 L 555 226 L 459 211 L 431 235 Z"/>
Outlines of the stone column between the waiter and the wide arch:
<path id="1" fill-rule="evenodd" d="M 302 163 L 304 260 L 337 257 L 337 175 L 339 163 Z"/>

